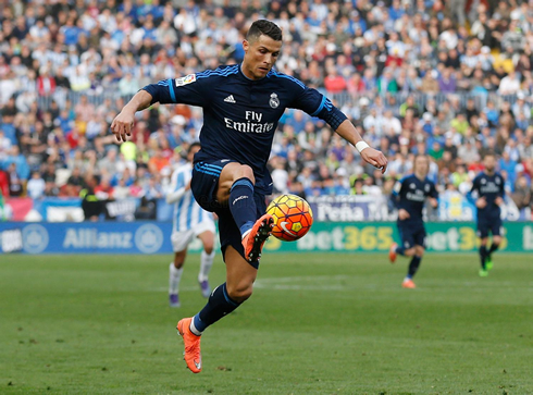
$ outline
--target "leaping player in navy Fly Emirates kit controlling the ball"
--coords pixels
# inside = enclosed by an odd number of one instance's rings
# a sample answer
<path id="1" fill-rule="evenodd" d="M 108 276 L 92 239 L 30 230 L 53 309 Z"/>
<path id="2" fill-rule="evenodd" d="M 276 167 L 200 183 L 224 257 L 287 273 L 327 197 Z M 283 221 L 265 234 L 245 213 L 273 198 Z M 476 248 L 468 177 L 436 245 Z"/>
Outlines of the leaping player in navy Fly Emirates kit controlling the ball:
<path id="1" fill-rule="evenodd" d="M 273 219 L 264 214 L 265 195 L 272 193 L 266 162 L 285 109 L 300 109 L 324 120 L 367 162 L 382 172 L 387 165 L 383 153 L 369 147 L 327 98 L 273 69 L 282 48 L 277 25 L 265 20 L 253 22 L 243 46 L 240 64 L 144 87 L 111 125 L 119 141 L 125 141 L 135 112 L 154 102 L 203 108 L 201 149 L 195 156 L 190 188 L 202 208 L 219 215 L 226 282 L 211 293 L 199 313 L 177 323 L 185 361 L 195 373 L 201 371 L 202 332 L 251 296 L 261 249 L 272 233 Z"/>

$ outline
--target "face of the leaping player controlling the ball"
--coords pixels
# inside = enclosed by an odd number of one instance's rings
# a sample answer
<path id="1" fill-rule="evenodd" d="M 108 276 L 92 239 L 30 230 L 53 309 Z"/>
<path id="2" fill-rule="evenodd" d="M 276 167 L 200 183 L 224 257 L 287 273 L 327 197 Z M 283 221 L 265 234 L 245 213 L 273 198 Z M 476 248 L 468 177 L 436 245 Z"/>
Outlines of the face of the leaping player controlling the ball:
<path id="1" fill-rule="evenodd" d="M 245 49 L 244 73 L 251 79 L 261 79 L 275 64 L 282 49 L 282 41 L 261 35 L 251 42 L 244 40 L 243 47 Z"/>

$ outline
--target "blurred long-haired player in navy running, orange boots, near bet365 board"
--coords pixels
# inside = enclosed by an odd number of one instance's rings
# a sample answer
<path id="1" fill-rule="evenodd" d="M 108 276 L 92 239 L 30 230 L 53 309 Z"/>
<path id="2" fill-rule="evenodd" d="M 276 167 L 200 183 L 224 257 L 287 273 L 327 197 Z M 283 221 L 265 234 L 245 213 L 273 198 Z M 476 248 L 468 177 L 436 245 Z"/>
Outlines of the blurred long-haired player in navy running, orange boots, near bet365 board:
<path id="1" fill-rule="evenodd" d="M 404 288 L 416 288 L 412 277 L 420 268 L 425 251 L 425 227 L 422 209 L 427 199 L 434 208 L 438 207 L 438 193 L 435 184 L 427 178 L 430 159 L 425 155 L 414 158 L 413 174 L 398 181 L 393 190 L 393 201 L 398 209 L 398 232 L 401 245 L 393 244 L 388 252 L 391 262 L 396 261 L 397 255 L 412 257 L 404 279 Z"/>

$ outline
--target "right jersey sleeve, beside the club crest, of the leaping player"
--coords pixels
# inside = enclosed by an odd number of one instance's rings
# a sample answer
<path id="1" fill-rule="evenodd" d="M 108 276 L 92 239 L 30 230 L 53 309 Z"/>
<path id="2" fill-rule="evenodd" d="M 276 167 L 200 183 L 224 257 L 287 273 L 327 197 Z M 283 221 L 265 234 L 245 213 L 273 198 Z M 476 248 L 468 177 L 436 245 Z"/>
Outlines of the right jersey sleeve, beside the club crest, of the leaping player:
<path id="1" fill-rule="evenodd" d="M 334 131 L 347 120 L 347 116 L 317 89 L 307 87 L 296 78 L 290 77 L 290 81 L 295 84 L 294 89 L 297 92 L 289 106 L 290 108 L 302 110 L 311 116 L 324 120 Z"/>

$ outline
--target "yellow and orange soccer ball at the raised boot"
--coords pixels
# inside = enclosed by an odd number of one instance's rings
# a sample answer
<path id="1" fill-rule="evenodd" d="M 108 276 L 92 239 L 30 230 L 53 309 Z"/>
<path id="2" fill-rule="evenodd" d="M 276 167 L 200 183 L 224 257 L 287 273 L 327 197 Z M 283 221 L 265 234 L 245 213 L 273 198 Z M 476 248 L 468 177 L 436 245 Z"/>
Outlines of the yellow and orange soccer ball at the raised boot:
<path id="1" fill-rule="evenodd" d="M 274 237 L 295 242 L 309 232 L 313 224 L 313 212 L 309 203 L 296 195 L 282 195 L 272 200 L 266 213 L 274 219 Z"/>

